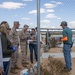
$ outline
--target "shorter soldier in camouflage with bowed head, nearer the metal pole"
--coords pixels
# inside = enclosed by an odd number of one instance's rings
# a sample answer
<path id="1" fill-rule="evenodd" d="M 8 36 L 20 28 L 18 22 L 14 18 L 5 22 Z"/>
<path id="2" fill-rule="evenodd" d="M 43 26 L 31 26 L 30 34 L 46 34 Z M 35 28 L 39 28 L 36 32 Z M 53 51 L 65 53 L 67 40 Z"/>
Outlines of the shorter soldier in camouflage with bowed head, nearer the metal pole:
<path id="1" fill-rule="evenodd" d="M 27 64 L 28 64 L 28 62 L 27 62 L 27 40 L 30 36 L 29 32 L 27 31 L 28 28 L 29 28 L 29 26 L 25 24 L 23 29 L 19 33 L 23 67 L 27 67 Z"/>

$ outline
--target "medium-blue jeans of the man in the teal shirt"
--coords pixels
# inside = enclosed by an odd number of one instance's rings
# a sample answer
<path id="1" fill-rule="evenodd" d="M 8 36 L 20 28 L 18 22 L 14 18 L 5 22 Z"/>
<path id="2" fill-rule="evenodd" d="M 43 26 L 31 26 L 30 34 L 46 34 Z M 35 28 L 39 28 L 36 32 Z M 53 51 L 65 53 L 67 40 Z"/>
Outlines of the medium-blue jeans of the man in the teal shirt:
<path id="1" fill-rule="evenodd" d="M 66 68 L 70 70 L 71 68 L 71 45 L 69 44 L 64 44 L 63 46 L 63 54 L 65 58 L 65 63 L 66 63 Z"/>

